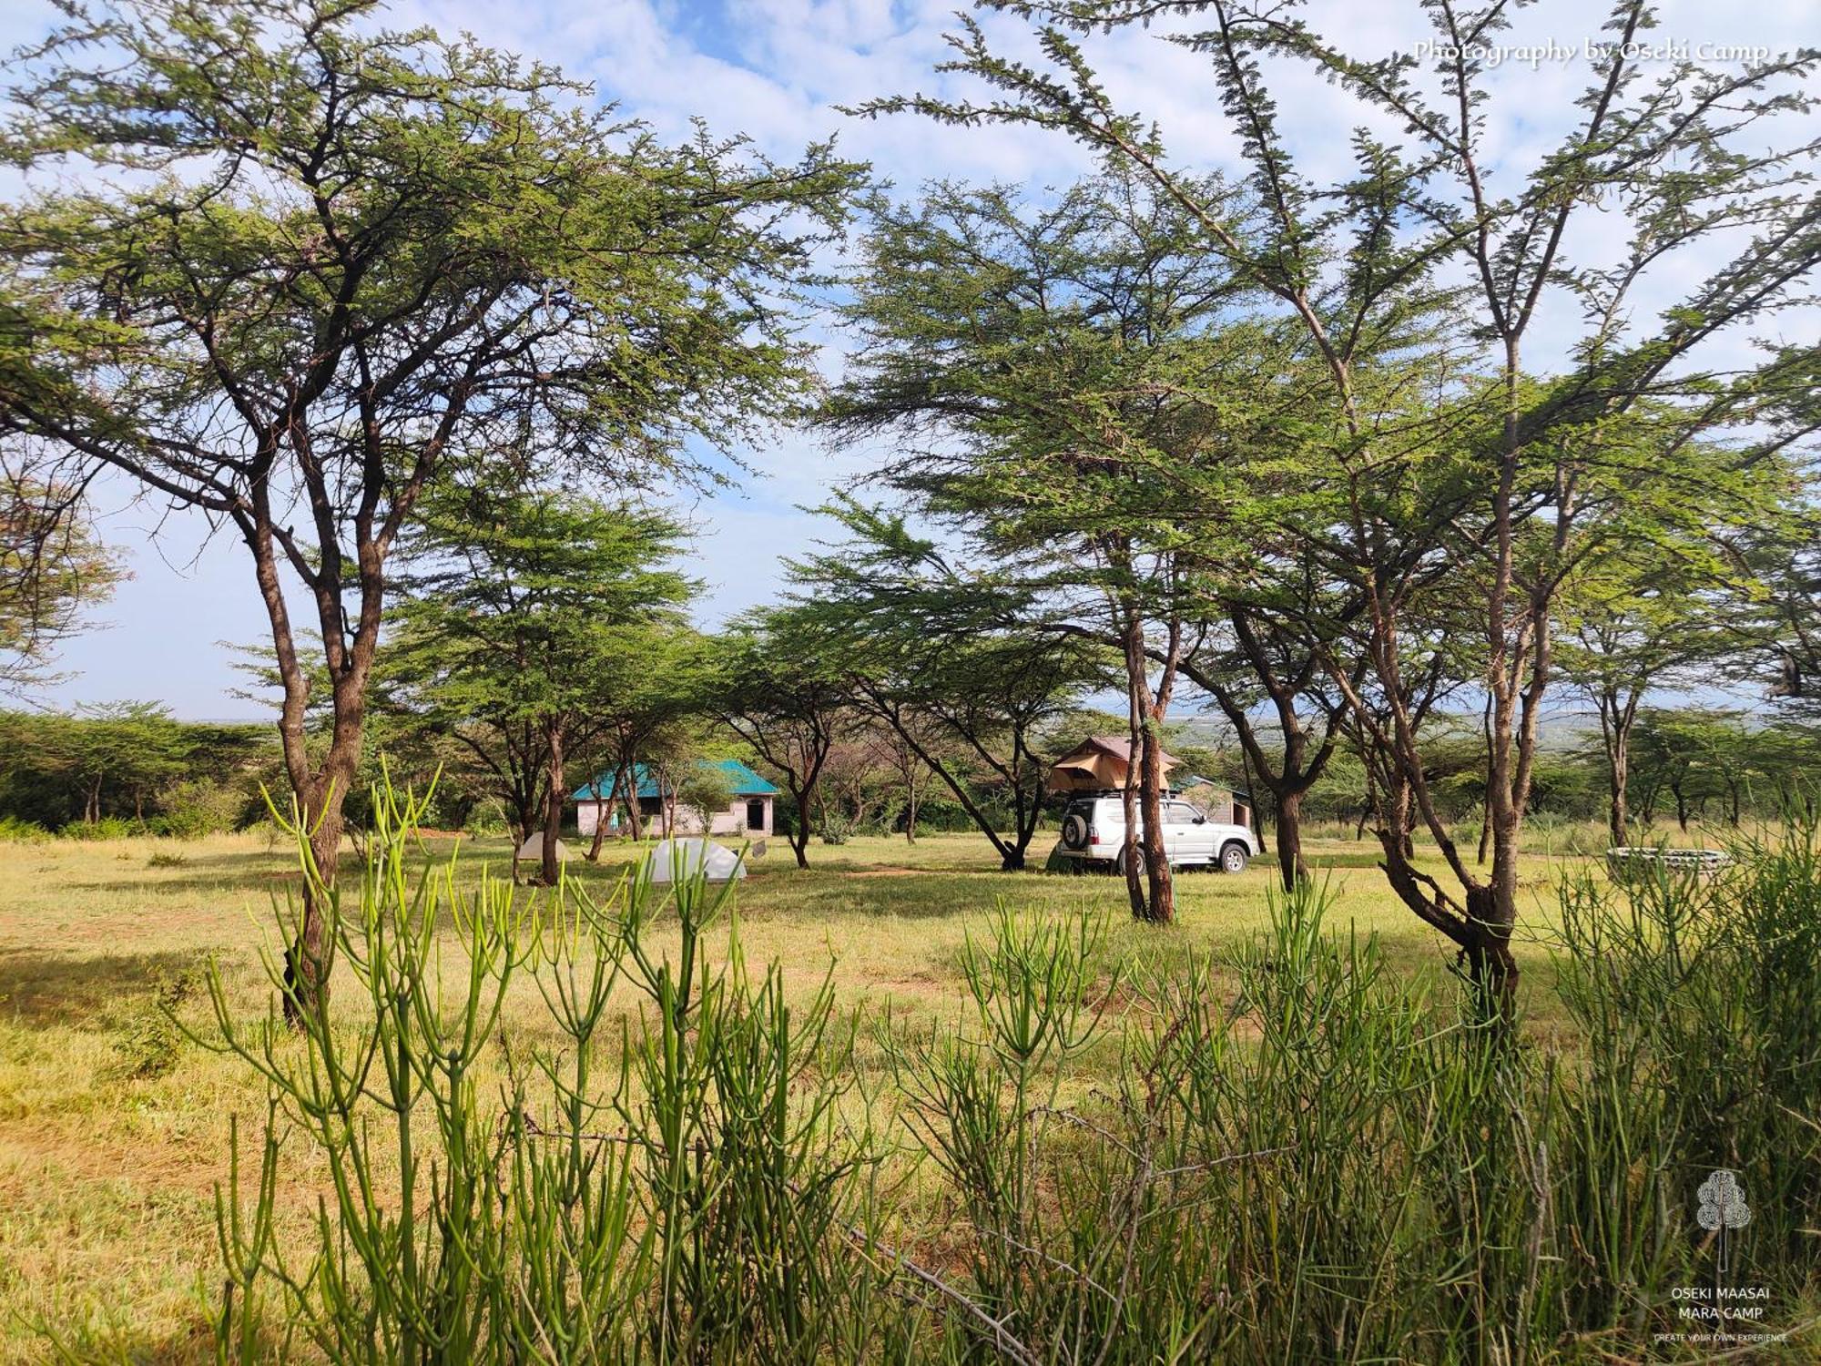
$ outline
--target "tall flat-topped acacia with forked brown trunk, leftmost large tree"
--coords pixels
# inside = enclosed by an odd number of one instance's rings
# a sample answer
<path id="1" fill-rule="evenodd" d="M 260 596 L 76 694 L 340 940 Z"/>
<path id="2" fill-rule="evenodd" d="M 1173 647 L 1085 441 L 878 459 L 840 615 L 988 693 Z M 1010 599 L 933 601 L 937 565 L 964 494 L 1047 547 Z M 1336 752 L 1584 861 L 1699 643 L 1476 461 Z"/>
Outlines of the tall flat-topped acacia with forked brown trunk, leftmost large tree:
<path id="1" fill-rule="evenodd" d="M 552 69 L 373 9 L 71 7 L 15 64 L 0 138 L 33 186 L 0 220 L 0 424 L 246 545 L 324 878 L 424 490 L 455 454 L 526 448 L 643 479 L 792 399 L 779 290 L 854 177 L 827 148 L 663 146 Z M 331 690 L 319 754 L 295 601 Z M 306 898 L 288 1009 L 320 976 Z"/>

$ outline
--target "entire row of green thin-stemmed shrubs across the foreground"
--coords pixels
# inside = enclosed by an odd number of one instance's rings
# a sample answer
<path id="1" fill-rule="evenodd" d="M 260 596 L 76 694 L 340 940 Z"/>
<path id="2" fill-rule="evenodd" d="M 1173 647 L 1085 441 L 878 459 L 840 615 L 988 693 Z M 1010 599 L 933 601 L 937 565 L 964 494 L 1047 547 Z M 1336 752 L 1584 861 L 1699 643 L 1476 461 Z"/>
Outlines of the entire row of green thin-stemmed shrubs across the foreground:
<path id="1" fill-rule="evenodd" d="M 1302 883 L 1220 960 L 1127 962 L 1104 918 L 1000 911 L 960 1020 L 878 1020 L 894 1086 L 850 1095 L 858 1022 L 827 982 L 787 1009 L 776 967 L 748 973 L 738 883 L 532 909 L 484 880 L 448 905 L 446 865 L 404 869 L 421 812 L 375 812 L 359 907 L 317 889 L 355 1027 L 341 1004 L 275 1047 L 208 978 L 211 1042 L 271 1106 L 257 1186 L 235 1144 L 220 1204 L 224 1359 L 297 1337 L 335 1361 L 1635 1361 L 1737 1326 L 1681 1319 L 1679 1286 L 1765 1286 L 1752 1331 L 1821 1291 L 1814 831 L 1712 883 L 1564 887 L 1572 1051 L 1393 971 Z M 517 973 L 544 1016 L 508 1031 Z M 918 1213 L 876 1180 L 887 1107 L 940 1178 L 927 1253 L 881 1235 Z M 333 1191 L 300 1260 L 275 1239 L 290 1129 Z M 401 1193 L 371 1198 L 397 1155 Z M 1715 1169 L 1754 1209 L 1730 1271 L 1697 1206 Z"/>

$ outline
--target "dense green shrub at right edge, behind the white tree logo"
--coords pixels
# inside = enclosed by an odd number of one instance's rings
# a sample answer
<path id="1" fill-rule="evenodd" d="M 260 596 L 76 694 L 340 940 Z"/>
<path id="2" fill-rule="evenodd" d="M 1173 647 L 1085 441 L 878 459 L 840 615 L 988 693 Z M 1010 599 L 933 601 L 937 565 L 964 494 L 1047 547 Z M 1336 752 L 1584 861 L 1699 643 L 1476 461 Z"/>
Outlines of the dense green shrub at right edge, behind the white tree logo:
<path id="1" fill-rule="evenodd" d="M 1561 1215 L 1606 1268 L 1575 1277 L 1590 1328 L 1697 1275 L 1683 1173 L 1724 1167 L 1754 1193 L 1746 1280 L 1803 1286 L 1821 1213 L 1821 865 L 1816 827 L 1737 845 L 1721 878 L 1590 880 L 1562 896 L 1559 991 L 1584 1040 L 1564 1093 L 1572 1140 Z M 1630 1173 L 1615 1202 L 1615 1173 Z M 1624 1293 L 1637 1288 L 1637 1297 Z"/>

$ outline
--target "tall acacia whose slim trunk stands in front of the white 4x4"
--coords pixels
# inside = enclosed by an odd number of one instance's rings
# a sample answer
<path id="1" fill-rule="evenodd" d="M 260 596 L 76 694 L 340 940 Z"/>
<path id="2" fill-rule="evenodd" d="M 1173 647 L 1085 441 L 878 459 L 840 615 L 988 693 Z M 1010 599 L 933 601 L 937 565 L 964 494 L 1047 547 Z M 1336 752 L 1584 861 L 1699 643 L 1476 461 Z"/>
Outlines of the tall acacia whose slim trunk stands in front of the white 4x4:
<path id="1" fill-rule="evenodd" d="M 843 439 L 900 437 L 883 475 L 900 494 L 1027 590 L 1045 628 L 1118 652 L 1145 883 L 1134 851 L 1122 861 L 1133 912 L 1162 922 L 1160 732 L 1187 643 L 1187 546 L 1209 535 L 1171 515 L 1187 510 L 1175 472 L 1222 464 L 1246 424 L 1235 395 L 1267 352 L 1233 317 L 1233 273 L 1195 240 L 1193 219 L 1131 175 L 1043 209 L 951 186 L 876 206 L 847 310 L 863 344 L 823 413 Z"/>

